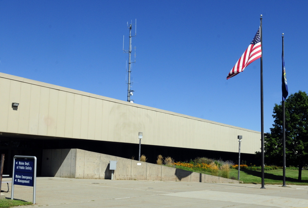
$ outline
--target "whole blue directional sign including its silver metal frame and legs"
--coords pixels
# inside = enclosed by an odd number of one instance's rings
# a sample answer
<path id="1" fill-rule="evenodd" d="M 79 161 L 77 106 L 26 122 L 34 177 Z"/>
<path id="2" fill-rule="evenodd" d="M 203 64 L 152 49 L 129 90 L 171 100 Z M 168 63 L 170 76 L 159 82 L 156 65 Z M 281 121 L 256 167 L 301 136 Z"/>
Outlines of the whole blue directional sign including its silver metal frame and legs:
<path id="1" fill-rule="evenodd" d="M 14 198 L 14 185 L 33 186 L 33 204 L 35 204 L 36 157 L 15 155 L 13 159 L 13 177 L 11 199 Z"/>

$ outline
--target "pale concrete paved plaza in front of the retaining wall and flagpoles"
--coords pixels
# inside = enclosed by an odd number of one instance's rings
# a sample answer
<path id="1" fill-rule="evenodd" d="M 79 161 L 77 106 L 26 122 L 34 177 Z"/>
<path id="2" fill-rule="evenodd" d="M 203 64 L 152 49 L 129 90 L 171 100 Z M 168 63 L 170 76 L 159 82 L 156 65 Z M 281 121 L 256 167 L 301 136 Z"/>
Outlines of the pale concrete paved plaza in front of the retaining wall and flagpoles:
<path id="1" fill-rule="evenodd" d="M 260 187 L 233 183 L 39 177 L 37 205 L 23 207 L 308 207 L 308 186 Z M 15 185 L 14 189 L 15 199 L 32 202 L 32 187 Z M 10 198 L 10 192 L 4 194 Z"/>

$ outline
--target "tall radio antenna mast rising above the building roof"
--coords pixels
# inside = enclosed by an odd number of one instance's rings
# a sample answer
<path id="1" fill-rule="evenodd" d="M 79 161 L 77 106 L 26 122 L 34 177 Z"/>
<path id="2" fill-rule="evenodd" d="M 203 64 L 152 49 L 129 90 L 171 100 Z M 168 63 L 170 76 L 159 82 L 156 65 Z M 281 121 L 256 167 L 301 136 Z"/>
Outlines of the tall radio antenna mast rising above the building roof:
<path id="1" fill-rule="evenodd" d="M 136 25 L 137 25 L 137 19 L 135 20 L 135 24 L 131 24 L 128 25 L 127 22 L 127 26 L 129 29 L 129 49 L 128 50 L 124 50 L 124 36 L 123 36 L 123 53 L 128 53 L 128 82 L 126 84 L 128 84 L 128 89 L 127 89 L 127 102 L 131 102 L 133 103 L 134 100 L 131 100 L 131 96 L 133 95 L 134 90 L 131 90 L 131 72 L 132 72 L 132 63 L 136 63 L 136 46 L 135 46 L 135 61 L 132 62 L 131 61 L 131 53 L 132 53 L 132 37 L 136 37 Z M 135 35 L 132 36 L 132 26 L 135 25 Z"/>

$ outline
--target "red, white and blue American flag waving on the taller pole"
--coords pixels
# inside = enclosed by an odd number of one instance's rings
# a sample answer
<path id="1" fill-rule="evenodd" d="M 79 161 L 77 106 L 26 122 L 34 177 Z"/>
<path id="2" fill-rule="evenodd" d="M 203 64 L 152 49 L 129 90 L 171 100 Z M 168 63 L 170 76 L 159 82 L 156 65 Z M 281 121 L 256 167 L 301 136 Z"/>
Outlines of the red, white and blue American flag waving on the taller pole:
<path id="1" fill-rule="evenodd" d="M 261 37 L 260 37 L 260 27 L 257 34 L 254 36 L 248 48 L 245 50 L 241 58 L 233 66 L 232 70 L 229 72 L 227 79 L 234 77 L 238 73 L 244 71 L 246 66 L 251 62 L 257 60 L 261 57 Z"/>

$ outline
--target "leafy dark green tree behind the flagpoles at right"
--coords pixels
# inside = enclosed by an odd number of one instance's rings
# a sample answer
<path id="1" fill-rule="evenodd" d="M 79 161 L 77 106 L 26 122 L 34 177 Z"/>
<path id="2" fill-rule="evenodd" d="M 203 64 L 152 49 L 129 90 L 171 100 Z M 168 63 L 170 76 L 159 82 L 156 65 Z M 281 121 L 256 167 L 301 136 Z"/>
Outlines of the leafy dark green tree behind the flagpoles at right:
<path id="1" fill-rule="evenodd" d="M 282 164 L 282 102 L 275 104 L 274 124 L 265 134 L 265 158 L 269 163 Z M 308 165 L 308 95 L 298 91 L 285 101 L 286 165 L 298 167 L 298 180 L 302 180 L 302 167 Z"/>

